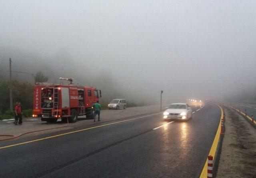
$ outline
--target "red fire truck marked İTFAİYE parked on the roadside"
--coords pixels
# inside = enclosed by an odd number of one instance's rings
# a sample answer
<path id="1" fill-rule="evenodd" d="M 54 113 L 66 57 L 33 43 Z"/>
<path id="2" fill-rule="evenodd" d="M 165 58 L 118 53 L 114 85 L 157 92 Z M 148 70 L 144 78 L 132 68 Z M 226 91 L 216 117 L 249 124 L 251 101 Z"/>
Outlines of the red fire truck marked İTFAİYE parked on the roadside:
<path id="1" fill-rule="evenodd" d="M 88 86 L 75 86 L 72 79 L 67 85 L 38 84 L 34 86 L 33 117 L 42 121 L 76 122 L 78 116 L 92 118 L 92 106 L 101 97 L 101 90 Z"/>

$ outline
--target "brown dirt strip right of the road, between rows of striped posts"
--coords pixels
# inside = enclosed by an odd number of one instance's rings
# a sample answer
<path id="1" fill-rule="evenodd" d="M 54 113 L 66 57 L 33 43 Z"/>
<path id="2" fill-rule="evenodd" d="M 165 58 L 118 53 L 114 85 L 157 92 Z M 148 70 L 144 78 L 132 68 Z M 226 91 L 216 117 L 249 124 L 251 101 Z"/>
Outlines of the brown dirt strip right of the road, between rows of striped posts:
<path id="1" fill-rule="evenodd" d="M 217 177 L 256 178 L 256 129 L 236 111 L 224 111 L 226 132 Z"/>

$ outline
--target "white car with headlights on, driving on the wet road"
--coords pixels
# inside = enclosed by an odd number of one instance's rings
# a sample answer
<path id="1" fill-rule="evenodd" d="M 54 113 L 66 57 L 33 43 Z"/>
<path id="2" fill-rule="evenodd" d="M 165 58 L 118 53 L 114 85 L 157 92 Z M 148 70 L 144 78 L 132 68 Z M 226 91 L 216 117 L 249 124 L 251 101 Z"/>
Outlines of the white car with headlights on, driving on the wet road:
<path id="1" fill-rule="evenodd" d="M 164 119 L 188 120 L 192 118 L 192 110 L 186 103 L 173 103 L 164 111 Z"/>

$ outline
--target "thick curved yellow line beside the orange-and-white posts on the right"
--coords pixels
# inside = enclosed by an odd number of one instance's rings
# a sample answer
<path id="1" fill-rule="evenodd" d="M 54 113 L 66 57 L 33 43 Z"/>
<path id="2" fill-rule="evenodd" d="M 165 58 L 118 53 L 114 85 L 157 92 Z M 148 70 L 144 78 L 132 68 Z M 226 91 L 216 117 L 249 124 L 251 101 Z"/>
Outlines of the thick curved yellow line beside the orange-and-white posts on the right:
<path id="1" fill-rule="evenodd" d="M 219 105 L 217 105 L 219 106 Z M 212 142 L 212 147 L 211 147 L 211 150 L 209 152 L 208 155 L 212 155 L 213 157 L 213 160 L 215 158 L 215 153 L 216 153 L 216 150 L 217 150 L 217 146 L 218 146 L 218 142 L 219 142 L 219 139 L 220 139 L 220 129 L 221 129 L 221 119 L 223 118 L 223 110 L 222 108 L 219 106 L 220 110 L 221 110 L 221 116 L 220 116 L 220 124 L 218 126 L 218 130 L 216 132 L 216 135 L 215 135 L 215 138 Z M 200 175 L 200 178 L 207 178 L 207 158 L 206 158 L 206 162 L 204 164 L 204 168 L 201 172 L 201 175 Z"/>

